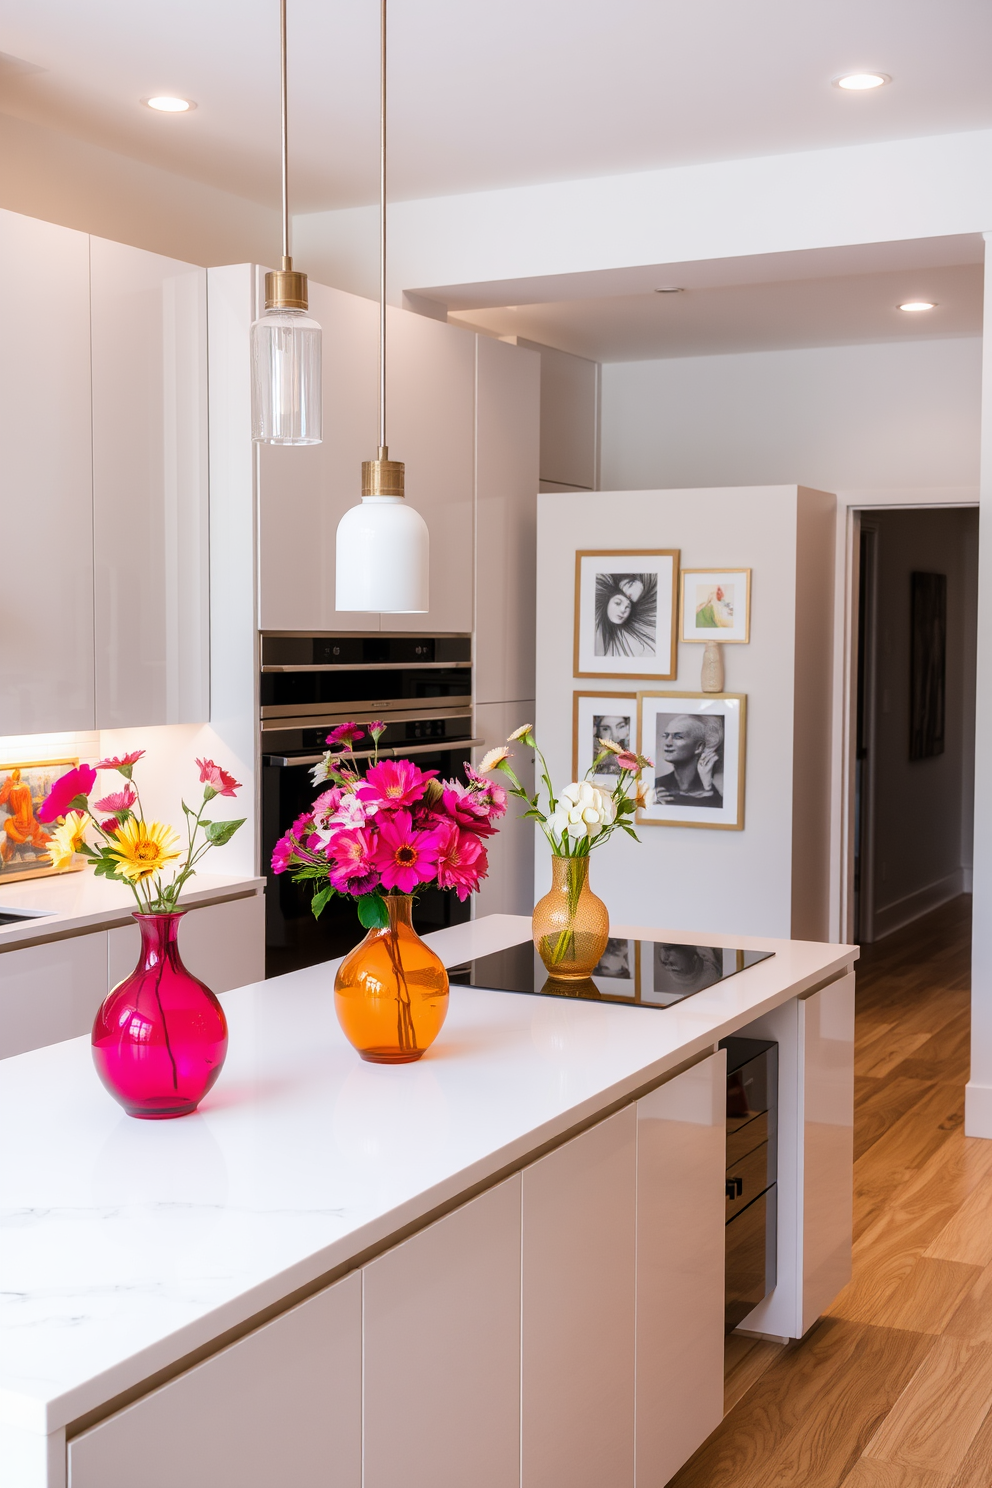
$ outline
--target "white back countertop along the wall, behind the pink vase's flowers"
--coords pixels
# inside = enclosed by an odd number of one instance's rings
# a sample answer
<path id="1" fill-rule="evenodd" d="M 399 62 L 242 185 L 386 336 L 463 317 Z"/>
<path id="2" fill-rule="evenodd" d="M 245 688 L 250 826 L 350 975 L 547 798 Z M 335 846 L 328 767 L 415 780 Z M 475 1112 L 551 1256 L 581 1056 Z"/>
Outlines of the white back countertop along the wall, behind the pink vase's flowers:
<path id="1" fill-rule="evenodd" d="M 181 899 L 183 909 L 216 903 L 241 894 L 257 894 L 263 878 L 236 878 L 229 873 L 196 873 Z M 30 912 L 30 920 L 0 924 L 0 952 L 37 940 L 52 940 L 86 930 L 131 923 L 134 894 L 126 884 L 97 878 L 91 868 L 76 873 L 22 878 L 15 884 L 0 881 L 0 912 Z"/>

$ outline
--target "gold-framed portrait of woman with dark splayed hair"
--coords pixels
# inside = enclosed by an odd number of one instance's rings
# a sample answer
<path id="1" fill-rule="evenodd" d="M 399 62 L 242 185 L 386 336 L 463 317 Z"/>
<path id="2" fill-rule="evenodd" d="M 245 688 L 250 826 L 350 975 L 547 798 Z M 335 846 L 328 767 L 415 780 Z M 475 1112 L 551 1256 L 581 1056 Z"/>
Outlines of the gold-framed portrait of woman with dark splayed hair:
<path id="1" fill-rule="evenodd" d="M 576 677 L 674 682 L 678 549 L 576 554 Z"/>

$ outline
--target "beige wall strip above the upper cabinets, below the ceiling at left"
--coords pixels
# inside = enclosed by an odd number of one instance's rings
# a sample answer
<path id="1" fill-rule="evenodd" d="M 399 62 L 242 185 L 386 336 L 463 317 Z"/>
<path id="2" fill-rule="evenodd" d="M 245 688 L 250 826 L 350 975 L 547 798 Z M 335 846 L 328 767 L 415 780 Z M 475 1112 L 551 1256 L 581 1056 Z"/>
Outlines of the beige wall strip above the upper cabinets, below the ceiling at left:
<path id="1" fill-rule="evenodd" d="M 205 266 L 275 262 L 280 213 L 0 113 L 0 207 Z"/>

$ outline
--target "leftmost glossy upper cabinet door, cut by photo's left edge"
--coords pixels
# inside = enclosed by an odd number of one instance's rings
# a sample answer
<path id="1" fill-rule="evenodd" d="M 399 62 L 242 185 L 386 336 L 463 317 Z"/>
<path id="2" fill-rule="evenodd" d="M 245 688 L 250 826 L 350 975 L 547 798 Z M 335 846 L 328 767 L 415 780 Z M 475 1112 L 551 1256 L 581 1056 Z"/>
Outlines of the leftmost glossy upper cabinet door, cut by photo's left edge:
<path id="1" fill-rule="evenodd" d="M 0 211 L 0 734 L 94 726 L 89 240 Z"/>

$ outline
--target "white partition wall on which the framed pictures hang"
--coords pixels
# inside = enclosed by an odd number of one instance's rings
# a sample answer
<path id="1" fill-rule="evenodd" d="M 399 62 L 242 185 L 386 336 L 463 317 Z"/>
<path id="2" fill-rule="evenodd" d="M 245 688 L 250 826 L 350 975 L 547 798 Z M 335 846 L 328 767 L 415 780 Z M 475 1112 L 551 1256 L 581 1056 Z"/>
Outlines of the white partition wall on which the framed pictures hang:
<path id="1" fill-rule="evenodd" d="M 645 826 L 641 842 L 617 835 L 593 853 L 590 882 L 614 920 L 684 931 L 793 934 L 794 778 L 825 775 L 809 751 L 796 757 L 796 679 L 815 647 L 797 655 L 797 516 L 809 493 L 793 487 L 706 491 L 626 491 L 608 503 L 598 494 L 543 494 L 537 527 L 537 740 L 552 780 L 571 780 L 573 692 L 699 692 L 702 646 L 678 646 L 671 683 L 573 677 L 574 554 L 617 548 L 635 533 L 637 548 L 678 548 L 687 568 L 753 568 L 751 641 L 724 647 L 726 690 L 748 698 L 745 826 L 742 832 Z M 811 503 L 824 503 L 821 493 Z M 833 543 L 822 545 L 827 576 Z M 818 610 L 830 650 L 830 606 Z M 821 647 L 822 650 L 822 647 Z M 828 673 L 828 667 L 827 667 Z M 821 737 L 830 735 L 822 698 Z M 528 722 L 521 719 L 519 722 Z M 518 747 L 518 754 L 522 751 Z M 653 750 L 648 750 L 653 754 Z M 825 744 L 822 750 L 825 759 Z M 825 796 L 825 780 L 817 787 Z M 515 804 L 516 806 L 516 804 Z M 800 823 L 809 835 L 808 823 Z M 819 844 L 825 859 L 825 844 Z M 550 850 L 535 829 L 535 893 L 550 882 Z M 799 906 L 805 921 L 811 909 Z M 825 906 L 818 917 L 825 924 Z M 819 931 L 825 939 L 824 931 Z M 814 937 L 814 936 L 809 936 Z"/>

